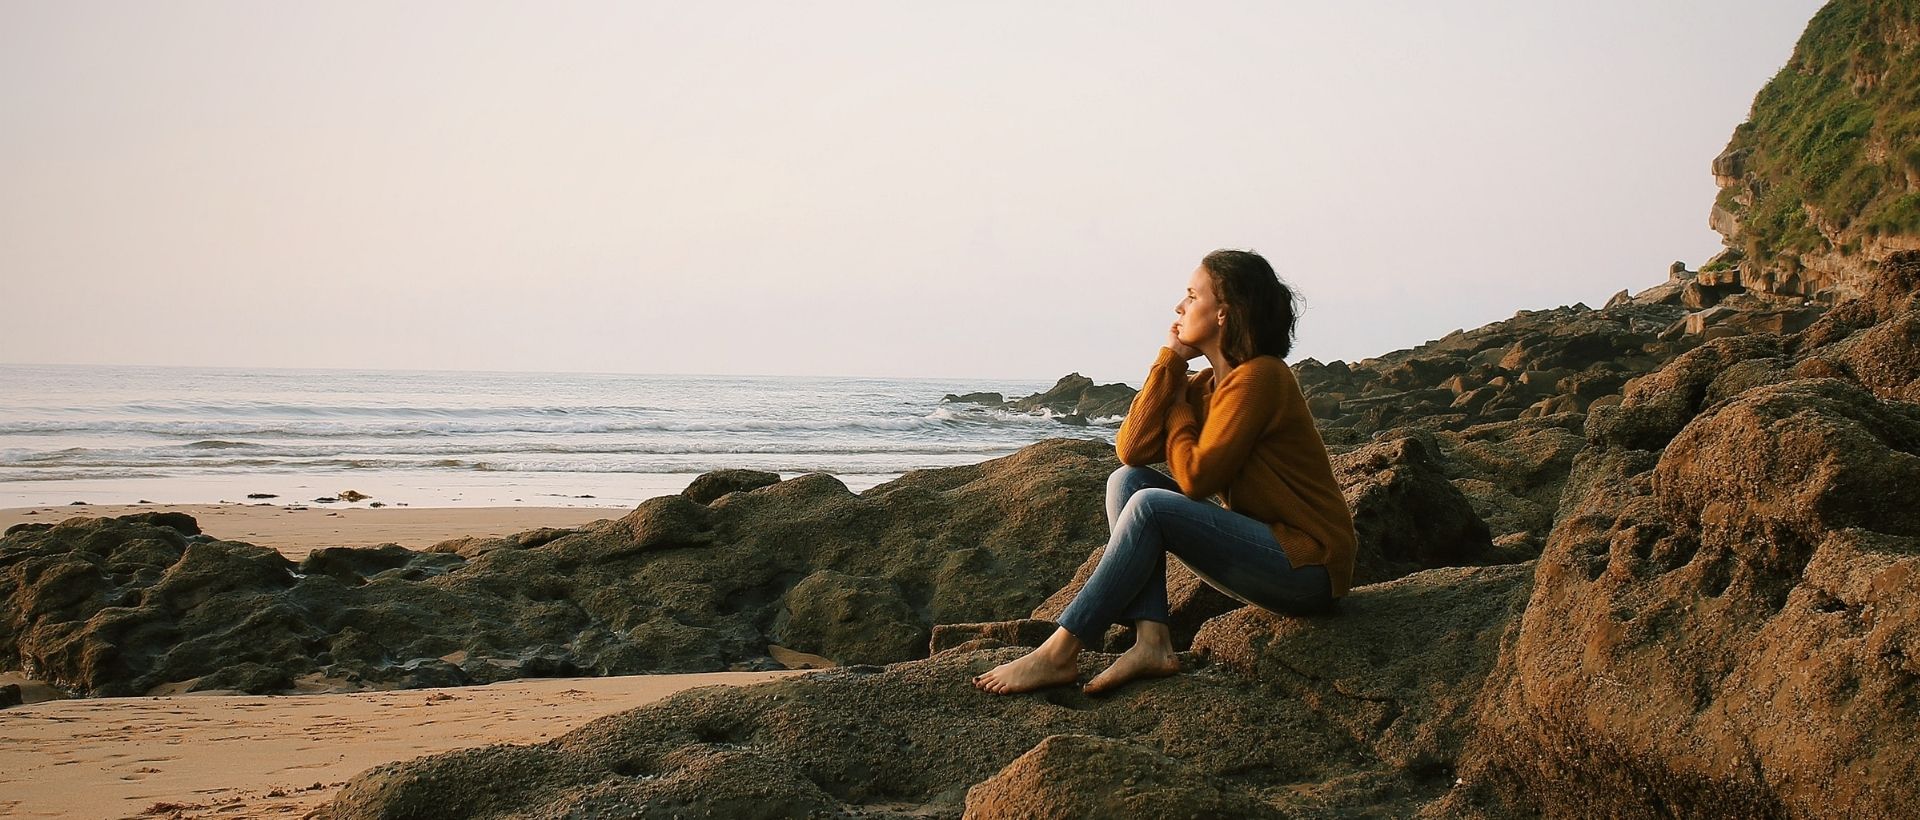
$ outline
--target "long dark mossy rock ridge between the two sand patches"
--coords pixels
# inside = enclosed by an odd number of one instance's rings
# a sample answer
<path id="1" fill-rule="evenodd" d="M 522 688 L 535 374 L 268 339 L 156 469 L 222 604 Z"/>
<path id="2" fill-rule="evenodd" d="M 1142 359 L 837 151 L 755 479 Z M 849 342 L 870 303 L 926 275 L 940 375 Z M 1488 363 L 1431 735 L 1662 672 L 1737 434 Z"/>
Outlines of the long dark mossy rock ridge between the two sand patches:
<path id="1" fill-rule="evenodd" d="M 730 474 L 578 530 L 301 563 L 184 515 L 33 524 L 0 540 L 0 668 L 138 695 L 778 668 L 768 645 L 906 661 L 933 624 L 1044 601 L 1104 543 L 1116 467 L 1050 440 L 864 495 Z"/>

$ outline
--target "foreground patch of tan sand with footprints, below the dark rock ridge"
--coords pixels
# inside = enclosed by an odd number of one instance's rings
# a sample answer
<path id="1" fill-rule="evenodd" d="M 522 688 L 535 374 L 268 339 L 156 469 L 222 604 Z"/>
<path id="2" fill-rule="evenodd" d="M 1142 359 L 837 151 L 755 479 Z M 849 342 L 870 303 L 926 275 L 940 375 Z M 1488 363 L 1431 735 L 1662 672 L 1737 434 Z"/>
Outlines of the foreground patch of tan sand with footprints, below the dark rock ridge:
<path id="1" fill-rule="evenodd" d="M 29 703 L 0 711 L 0 816 L 301 816 L 382 762 L 532 743 L 695 686 L 789 674 L 799 672 Z"/>

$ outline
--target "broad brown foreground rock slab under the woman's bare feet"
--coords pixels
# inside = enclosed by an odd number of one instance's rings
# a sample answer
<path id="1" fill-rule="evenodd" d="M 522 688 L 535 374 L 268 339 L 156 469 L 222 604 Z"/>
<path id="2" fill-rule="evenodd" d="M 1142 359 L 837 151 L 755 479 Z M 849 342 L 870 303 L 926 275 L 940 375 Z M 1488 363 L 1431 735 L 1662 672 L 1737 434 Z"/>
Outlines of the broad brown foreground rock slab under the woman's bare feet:
<path id="1" fill-rule="evenodd" d="M 541 745 L 372 768 L 321 814 L 1404 816 L 1453 789 L 1530 576 L 1446 568 L 1336 616 L 1235 613 L 1196 643 L 1213 661 L 1106 699 L 968 684 L 1023 649 L 691 689 Z"/>

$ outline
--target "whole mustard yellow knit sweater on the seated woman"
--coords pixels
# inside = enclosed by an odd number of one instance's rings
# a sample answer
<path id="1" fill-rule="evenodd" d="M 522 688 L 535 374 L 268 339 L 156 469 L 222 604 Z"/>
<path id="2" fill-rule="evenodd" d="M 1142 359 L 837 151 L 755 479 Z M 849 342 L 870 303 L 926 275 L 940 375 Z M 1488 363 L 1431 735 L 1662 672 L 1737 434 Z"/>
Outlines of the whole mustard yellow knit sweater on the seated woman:
<path id="1" fill-rule="evenodd" d="M 1275 355 L 1242 361 L 1217 380 L 1160 348 L 1119 424 L 1119 461 L 1165 461 L 1181 492 L 1219 494 L 1227 509 L 1265 522 L 1294 567 L 1327 567 L 1334 597 L 1354 582 L 1354 515 L 1332 478 L 1327 446 L 1294 371 Z"/>

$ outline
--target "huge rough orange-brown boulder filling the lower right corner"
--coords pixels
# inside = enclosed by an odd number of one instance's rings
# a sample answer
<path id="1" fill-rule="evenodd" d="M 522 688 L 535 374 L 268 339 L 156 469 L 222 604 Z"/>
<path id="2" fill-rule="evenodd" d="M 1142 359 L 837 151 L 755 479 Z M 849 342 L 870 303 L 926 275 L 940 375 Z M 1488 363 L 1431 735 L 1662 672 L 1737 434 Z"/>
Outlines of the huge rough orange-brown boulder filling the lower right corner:
<path id="1" fill-rule="evenodd" d="M 1920 407 L 1830 378 L 1588 449 L 1467 778 L 1548 814 L 1914 816 L 1914 486 Z"/>

